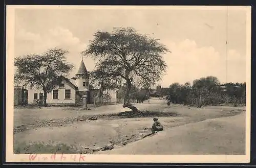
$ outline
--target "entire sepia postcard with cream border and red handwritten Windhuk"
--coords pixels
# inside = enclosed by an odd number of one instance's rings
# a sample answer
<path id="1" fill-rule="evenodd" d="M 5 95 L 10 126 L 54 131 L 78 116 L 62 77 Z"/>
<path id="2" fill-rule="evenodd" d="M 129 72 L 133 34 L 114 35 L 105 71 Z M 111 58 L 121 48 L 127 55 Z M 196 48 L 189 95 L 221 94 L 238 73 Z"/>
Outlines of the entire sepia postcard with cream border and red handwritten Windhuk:
<path id="1" fill-rule="evenodd" d="M 250 6 L 7 6 L 6 162 L 248 163 Z"/>

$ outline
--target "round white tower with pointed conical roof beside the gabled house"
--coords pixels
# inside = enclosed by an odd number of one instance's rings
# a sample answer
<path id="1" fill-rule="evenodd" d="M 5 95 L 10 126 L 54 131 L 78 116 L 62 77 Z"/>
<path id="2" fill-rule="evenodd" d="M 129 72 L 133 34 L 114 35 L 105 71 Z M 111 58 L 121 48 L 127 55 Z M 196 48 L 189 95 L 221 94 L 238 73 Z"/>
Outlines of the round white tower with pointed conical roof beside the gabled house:
<path id="1" fill-rule="evenodd" d="M 89 91 L 89 73 L 84 65 L 83 60 L 80 63 L 79 69 L 76 73 L 76 85 L 80 91 Z"/>

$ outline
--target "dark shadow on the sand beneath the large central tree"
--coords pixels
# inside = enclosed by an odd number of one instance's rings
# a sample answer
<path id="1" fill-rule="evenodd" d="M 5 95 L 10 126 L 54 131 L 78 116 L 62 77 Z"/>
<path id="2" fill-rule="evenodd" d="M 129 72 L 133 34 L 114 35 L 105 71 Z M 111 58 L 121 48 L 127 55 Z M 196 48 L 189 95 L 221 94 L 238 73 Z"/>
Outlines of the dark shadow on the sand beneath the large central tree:
<path id="1" fill-rule="evenodd" d="M 143 111 L 141 113 L 133 111 L 124 111 L 117 114 L 109 114 L 109 116 L 117 118 L 138 118 L 138 117 L 169 117 L 169 116 L 181 116 L 176 112 L 166 111 Z"/>

